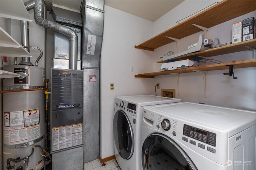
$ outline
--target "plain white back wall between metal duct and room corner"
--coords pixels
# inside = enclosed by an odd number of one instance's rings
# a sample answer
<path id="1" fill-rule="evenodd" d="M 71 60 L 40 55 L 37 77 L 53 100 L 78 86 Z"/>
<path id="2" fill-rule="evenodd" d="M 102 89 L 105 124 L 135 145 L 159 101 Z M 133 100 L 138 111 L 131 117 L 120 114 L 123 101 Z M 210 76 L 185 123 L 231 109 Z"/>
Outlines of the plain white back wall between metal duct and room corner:
<path id="1" fill-rule="evenodd" d="M 112 123 L 115 97 L 154 94 L 152 78 L 134 78 L 135 74 L 152 71 L 153 53 L 134 48 L 152 35 L 151 21 L 105 6 L 100 72 L 101 158 L 114 155 Z M 130 71 L 130 66 L 133 66 L 133 71 Z M 114 91 L 110 91 L 110 83 L 114 83 Z"/>

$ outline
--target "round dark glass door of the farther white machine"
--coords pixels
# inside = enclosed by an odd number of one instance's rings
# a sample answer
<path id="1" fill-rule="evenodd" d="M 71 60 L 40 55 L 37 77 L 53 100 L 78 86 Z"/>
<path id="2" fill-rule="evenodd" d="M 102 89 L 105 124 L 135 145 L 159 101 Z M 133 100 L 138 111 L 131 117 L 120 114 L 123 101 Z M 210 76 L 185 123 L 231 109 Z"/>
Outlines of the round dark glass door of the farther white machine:
<path id="1" fill-rule="evenodd" d="M 118 110 L 114 115 L 113 131 L 118 153 L 122 158 L 130 159 L 134 151 L 134 134 L 132 125 L 122 110 Z"/>

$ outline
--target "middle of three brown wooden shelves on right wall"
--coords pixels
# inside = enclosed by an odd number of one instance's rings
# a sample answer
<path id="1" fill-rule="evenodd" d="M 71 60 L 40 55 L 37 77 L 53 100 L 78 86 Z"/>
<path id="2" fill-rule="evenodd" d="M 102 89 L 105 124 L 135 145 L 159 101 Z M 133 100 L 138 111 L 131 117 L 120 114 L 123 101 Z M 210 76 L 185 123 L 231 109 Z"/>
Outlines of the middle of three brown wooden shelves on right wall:
<path id="1" fill-rule="evenodd" d="M 193 58 L 200 58 L 200 56 L 202 57 L 212 57 L 212 56 L 216 56 L 216 55 L 223 55 L 223 54 L 229 54 L 229 53 L 236 53 L 239 51 L 246 51 L 248 50 L 248 48 L 246 48 L 245 46 L 250 46 L 256 49 L 256 39 L 251 39 L 248 41 L 243 41 L 240 43 L 235 43 L 235 44 L 231 44 L 231 45 L 225 45 L 223 47 L 217 47 L 214 49 L 208 49 L 205 51 L 198 51 L 195 53 L 190 53 L 190 54 L 186 54 L 186 55 L 181 55 L 179 57 L 174 57 L 172 59 L 168 59 L 165 61 L 157 61 L 156 63 L 167 63 L 167 61 L 170 60 L 186 60 L 186 59 L 193 59 Z"/>

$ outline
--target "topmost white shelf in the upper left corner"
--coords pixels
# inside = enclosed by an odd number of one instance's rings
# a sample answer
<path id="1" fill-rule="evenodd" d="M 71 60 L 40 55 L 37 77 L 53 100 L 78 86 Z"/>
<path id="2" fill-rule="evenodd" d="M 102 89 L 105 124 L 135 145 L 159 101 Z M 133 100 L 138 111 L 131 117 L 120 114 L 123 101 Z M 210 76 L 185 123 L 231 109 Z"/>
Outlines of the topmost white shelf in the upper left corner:
<path id="1" fill-rule="evenodd" d="M 4 18 L 32 21 L 22 0 L 0 0 L 0 15 Z"/>

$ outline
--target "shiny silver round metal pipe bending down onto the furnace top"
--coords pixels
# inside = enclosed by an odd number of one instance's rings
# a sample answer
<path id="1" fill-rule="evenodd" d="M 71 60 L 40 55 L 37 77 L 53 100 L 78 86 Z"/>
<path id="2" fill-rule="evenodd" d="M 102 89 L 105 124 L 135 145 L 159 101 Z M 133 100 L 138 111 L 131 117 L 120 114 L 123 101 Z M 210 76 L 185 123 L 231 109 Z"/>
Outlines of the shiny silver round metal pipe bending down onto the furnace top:
<path id="1" fill-rule="evenodd" d="M 30 0 L 24 3 L 27 10 L 34 8 L 34 19 L 40 27 L 52 29 L 70 38 L 69 69 L 77 69 L 78 36 L 72 29 L 59 23 L 44 19 L 44 0 Z"/>

